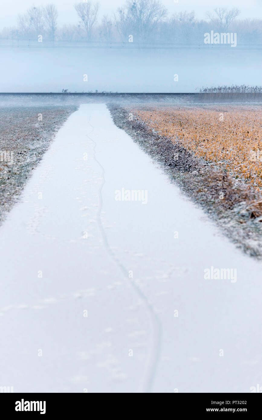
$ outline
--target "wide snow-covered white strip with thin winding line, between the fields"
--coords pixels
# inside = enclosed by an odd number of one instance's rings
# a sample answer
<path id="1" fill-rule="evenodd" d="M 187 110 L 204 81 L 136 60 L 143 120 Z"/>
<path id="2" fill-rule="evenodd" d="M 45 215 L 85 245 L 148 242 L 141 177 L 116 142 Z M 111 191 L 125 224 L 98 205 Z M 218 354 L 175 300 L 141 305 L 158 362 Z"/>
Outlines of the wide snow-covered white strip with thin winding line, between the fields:
<path id="1" fill-rule="evenodd" d="M 146 191 L 147 204 L 115 200 L 122 188 Z M 220 236 L 104 104 L 81 105 L 60 129 L 0 245 L 0 386 L 262 385 L 262 265 Z M 236 268 L 236 282 L 204 279 L 211 266 Z"/>

